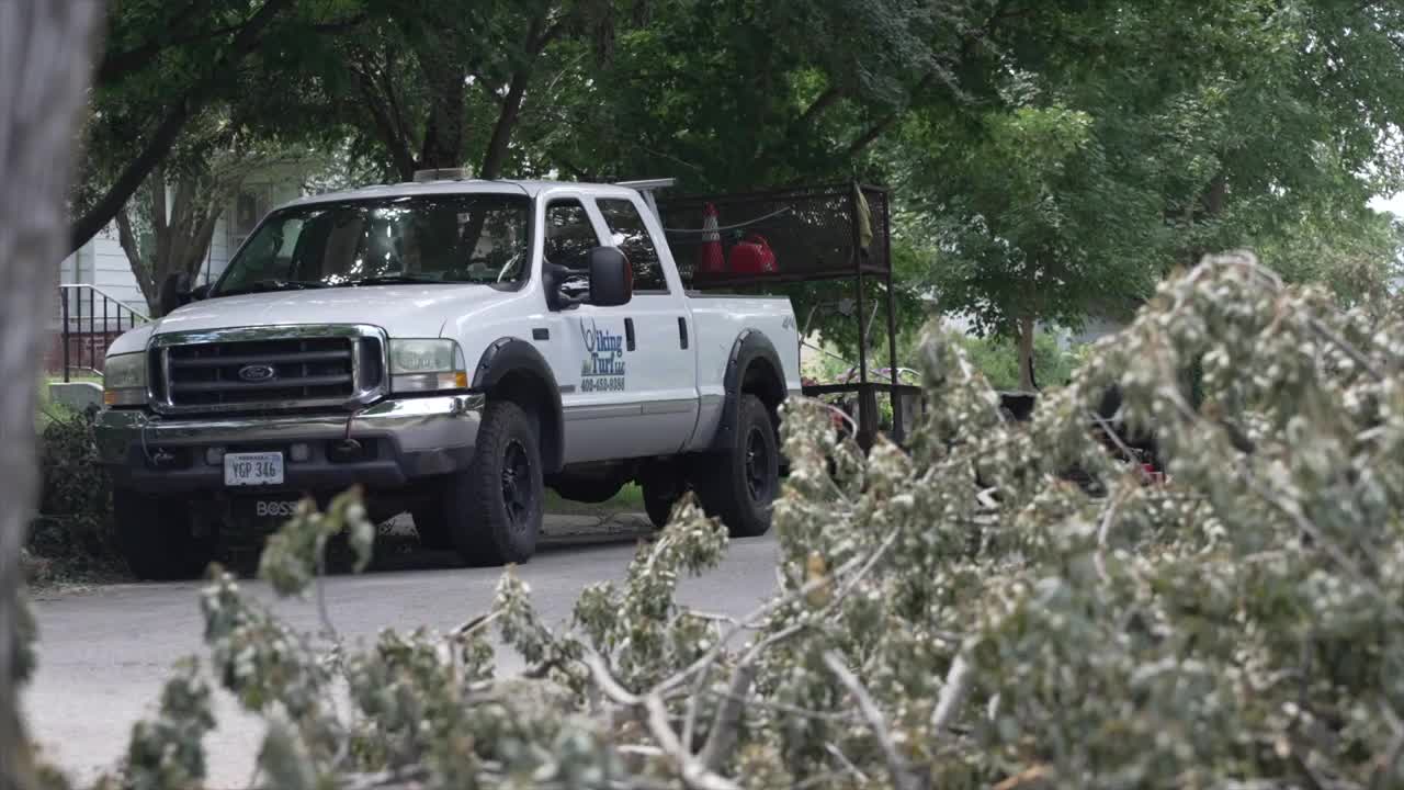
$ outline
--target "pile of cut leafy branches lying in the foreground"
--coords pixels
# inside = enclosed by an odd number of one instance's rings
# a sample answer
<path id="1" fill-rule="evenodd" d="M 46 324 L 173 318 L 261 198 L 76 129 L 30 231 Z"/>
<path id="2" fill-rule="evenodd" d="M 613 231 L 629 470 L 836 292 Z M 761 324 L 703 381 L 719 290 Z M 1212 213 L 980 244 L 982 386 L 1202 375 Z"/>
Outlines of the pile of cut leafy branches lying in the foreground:
<path id="1" fill-rule="evenodd" d="M 1341 312 L 1251 256 L 1207 259 L 1021 426 L 959 346 L 931 332 L 924 357 L 938 408 L 907 451 L 865 455 L 824 405 L 785 406 L 778 589 L 746 617 L 675 600 L 727 544 L 691 500 L 556 626 L 508 568 L 493 609 L 448 634 L 351 647 L 327 614 L 314 642 L 216 571 L 206 642 L 219 682 L 270 721 L 260 784 L 1404 782 L 1400 312 Z M 1088 430 L 1113 385 L 1171 484 L 1143 485 Z M 1074 465 L 1106 496 L 1066 482 Z M 354 492 L 303 510 L 261 575 L 314 593 L 327 538 L 348 531 L 364 561 L 366 529 Z M 494 637 L 532 669 L 496 678 Z M 124 786 L 201 780 L 212 717 L 194 666 L 133 731 Z M 338 683 L 352 714 L 330 701 Z"/>

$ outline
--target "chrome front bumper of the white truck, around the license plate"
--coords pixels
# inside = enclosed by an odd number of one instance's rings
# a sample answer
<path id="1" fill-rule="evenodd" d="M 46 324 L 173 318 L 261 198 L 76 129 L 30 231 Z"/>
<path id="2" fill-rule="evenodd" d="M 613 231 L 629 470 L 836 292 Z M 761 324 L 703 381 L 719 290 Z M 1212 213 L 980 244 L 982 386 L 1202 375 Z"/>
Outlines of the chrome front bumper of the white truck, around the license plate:
<path id="1" fill-rule="evenodd" d="M 284 453 L 281 489 L 400 488 L 417 478 L 465 468 L 473 455 L 483 395 L 386 399 L 359 412 L 275 416 L 163 417 L 138 409 L 104 409 L 97 416 L 100 461 L 114 484 L 139 491 L 223 488 L 223 465 L 206 453 Z M 362 453 L 341 457 L 336 446 L 354 439 Z M 309 457 L 292 460 L 293 444 Z M 253 491 L 250 491 L 253 493 Z"/>

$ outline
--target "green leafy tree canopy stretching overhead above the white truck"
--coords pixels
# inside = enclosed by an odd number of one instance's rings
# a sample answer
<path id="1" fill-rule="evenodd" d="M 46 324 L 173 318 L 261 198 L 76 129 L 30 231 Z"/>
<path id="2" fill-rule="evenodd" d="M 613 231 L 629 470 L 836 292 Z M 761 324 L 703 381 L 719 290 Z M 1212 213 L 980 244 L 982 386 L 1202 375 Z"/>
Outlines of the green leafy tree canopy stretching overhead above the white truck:
<path id="1" fill-rule="evenodd" d="M 74 246 L 232 139 L 406 180 L 892 184 L 901 316 L 1123 318 L 1172 266 L 1273 252 L 1359 294 L 1400 249 L 1404 11 L 1365 0 L 128 0 Z M 340 167 L 340 166 L 338 166 Z M 1317 250 L 1293 263 L 1286 247 Z M 834 288 L 790 288 L 802 306 Z M 1342 294 L 1348 298 L 1349 294 Z M 873 291 L 869 294 L 878 297 Z M 826 335 L 852 350 L 838 319 Z"/>

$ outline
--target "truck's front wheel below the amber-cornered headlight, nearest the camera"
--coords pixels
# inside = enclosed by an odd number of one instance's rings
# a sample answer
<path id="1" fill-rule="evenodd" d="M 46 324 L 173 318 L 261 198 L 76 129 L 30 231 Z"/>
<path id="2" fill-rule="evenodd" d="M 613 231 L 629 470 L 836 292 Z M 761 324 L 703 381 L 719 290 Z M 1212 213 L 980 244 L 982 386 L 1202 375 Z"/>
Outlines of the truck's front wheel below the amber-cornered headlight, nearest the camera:
<path id="1" fill-rule="evenodd" d="M 535 420 L 511 401 L 489 402 L 473 462 L 442 496 L 453 547 L 469 565 L 526 562 L 545 499 Z"/>

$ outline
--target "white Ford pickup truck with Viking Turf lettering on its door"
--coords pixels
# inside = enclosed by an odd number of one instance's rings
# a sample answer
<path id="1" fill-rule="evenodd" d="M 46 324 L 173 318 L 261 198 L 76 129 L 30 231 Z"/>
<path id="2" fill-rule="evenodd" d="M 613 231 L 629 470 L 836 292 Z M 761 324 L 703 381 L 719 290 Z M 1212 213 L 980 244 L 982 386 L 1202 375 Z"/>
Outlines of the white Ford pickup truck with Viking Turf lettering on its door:
<path id="1" fill-rule="evenodd" d="M 637 481 L 734 536 L 778 493 L 789 299 L 701 297 L 646 193 L 417 179 L 271 211 L 225 273 L 105 360 L 100 457 L 142 578 L 198 574 L 302 495 L 361 485 L 469 564 L 526 561 L 546 488 Z"/>

